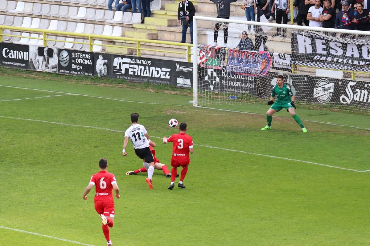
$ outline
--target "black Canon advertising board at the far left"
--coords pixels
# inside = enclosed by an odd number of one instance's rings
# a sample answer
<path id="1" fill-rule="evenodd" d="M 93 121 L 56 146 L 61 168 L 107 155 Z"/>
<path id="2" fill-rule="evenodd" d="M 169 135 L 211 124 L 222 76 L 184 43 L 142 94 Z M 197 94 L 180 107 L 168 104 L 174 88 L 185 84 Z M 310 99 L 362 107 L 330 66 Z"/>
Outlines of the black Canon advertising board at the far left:
<path id="1" fill-rule="evenodd" d="M 30 50 L 28 45 L 1 44 L 1 66 L 30 69 L 29 59 Z"/>

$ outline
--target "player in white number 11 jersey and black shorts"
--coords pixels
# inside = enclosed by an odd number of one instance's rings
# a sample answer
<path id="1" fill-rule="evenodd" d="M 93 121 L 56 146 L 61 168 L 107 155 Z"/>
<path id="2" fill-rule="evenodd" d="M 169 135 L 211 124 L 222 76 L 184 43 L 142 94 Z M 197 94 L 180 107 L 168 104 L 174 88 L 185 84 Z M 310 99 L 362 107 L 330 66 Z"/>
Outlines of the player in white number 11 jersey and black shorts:
<path id="1" fill-rule="evenodd" d="M 148 178 L 145 182 L 148 183 L 149 189 L 153 189 L 152 177 L 154 173 L 154 158 L 152 152 L 149 149 L 149 134 L 143 125 L 138 124 L 139 114 L 131 114 L 132 125 L 125 132 L 125 141 L 123 143 L 122 154 L 127 156 L 126 147 L 128 138 L 131 139 L 132 145 L 134 145 L 135 153 L 140 159 L 145 159 L 149 163 Z"/>

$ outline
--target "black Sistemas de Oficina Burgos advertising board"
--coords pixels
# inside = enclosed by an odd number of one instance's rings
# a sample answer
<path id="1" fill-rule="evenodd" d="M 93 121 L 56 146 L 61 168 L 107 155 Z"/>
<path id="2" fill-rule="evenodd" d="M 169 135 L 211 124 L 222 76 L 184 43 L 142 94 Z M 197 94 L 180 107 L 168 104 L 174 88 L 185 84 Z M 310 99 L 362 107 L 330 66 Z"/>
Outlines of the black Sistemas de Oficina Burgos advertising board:
<path id="1" fill-rule="evenodd" d="M 93 53 L 59 49 L 58 73 L 94 76 Z"/>

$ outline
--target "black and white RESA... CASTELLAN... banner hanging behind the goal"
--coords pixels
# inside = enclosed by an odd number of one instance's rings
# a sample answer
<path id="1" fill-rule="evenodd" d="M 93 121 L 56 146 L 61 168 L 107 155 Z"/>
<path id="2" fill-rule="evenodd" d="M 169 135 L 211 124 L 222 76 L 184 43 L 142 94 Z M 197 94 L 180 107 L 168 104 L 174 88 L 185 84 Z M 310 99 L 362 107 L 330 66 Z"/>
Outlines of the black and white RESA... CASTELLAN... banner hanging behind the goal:
<path id="1" fill-rule="evenodd" d="M 292 64 L 370 72 L 370 41 L 292 30 Z"/>

